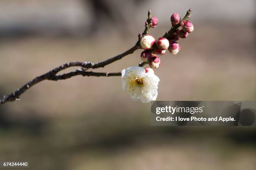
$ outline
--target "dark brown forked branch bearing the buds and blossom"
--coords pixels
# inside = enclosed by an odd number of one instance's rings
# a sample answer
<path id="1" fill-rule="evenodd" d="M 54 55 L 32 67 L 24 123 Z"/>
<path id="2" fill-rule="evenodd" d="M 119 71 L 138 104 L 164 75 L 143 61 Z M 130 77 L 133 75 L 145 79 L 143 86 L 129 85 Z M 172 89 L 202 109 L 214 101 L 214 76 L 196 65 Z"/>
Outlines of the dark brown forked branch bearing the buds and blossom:
<path id="1" fill-rule="evenodd" d="M 192 9 L 189 9 L 187 11 L 187 14 L 185 15 L 185 17 L 182 20 L 188 20 L 189 19 L 189 15 L 192 12 Z M 140 40 L 141 37 L 145 36 L 148 33 L 148 30 L 150 28 L 149 24 L 151 22 L 151 11 L 148 11 L 148 19 L 145 23 L 145 30 L 143 31 L 142 35 L 139 34 L 138 35 L 138 41 L 136 42 L 136 45 L 134 45 L 133 47 L 131 47 L 129 50 L 116 55 L 112 58 L 109 58 L 108 60 L 102 61 L 102 62 L 67 62 L 64 65 L 61 65 L 59 67 L 54 68 L 53 70 L 50 70 L 49 72 L 46 72 L 43 75 L 40 75 L 36 78 L 34 78 L 33 80 L 31 80 L 30 82 L 26 83 L 25 85 L 23 85 L 22 87 L 20 87 L 18 90 L 16 90 L 15 92 L 9 94 L 9 95 L 4 95 L 2 98 L 0 98 L 0 105 L 4 104 L 5 102 L 12 102 L 15 100 L 19 100 L 20 95 L 22 95 L 24 92 L 26 92 L 26 90 L 28 90 L 29 88 L 31 88 L 33 85 L 36 85 L 37 83 L 44 81 L 44 80 L 66 80 L 68 78 L 74 77 L 76 75 L 82 75 L 82 76 L 105 76 L 105 77 L 110 77 L 110 76 L 120 76 L 121 72 L 113 72 L 113 73 L 107 73 L 107 72 L 88 72 L 87 70 L 92 68 L 99 68 L 99 67 L 105 67 L 106 65 L 109 65 L 117 60 L 122 59 L 123 57 L 125 57 L 126 55 L 132 54 L 134 51 L 140 49 Z M 177 30 L 177 28 L 179 28 L 179 24 L 175 25 L 174 27 L 172 27 L 168 32 L 166 32 L 166 34 L 163 37 L 169 38 L 170 36 L 172 36 L 172 33 Z M 140 67 L 143 67 L 144 65 L 148 64 L 148 62 L 141 62 L 139 63 Z M 60 72 L 61 70 L 65 70 L 68 67 L 82 67 L 80 69 L 77 69 L 75 71 L 72 72 L 68 72 L 68 73 L 64 73 L 62 75 L 56 75 L 58 72 Z"/>

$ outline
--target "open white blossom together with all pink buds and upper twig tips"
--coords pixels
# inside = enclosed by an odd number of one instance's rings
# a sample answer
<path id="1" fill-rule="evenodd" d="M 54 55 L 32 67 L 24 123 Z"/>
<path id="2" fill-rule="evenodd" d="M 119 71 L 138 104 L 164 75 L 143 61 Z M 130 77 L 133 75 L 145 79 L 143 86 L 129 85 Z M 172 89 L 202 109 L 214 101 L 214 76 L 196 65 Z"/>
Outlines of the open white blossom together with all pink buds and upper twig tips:
<path id="1" fill-rule="evenodd" d="M 136 49 L 139 45 L 144 49 L 141 52 L 141 60 L 143 62 L 139 64 L 139 67 L 129 67 L 122 70 L 123 89 L 128 92 L 132 100 L 140 99 L 141 102 L 156 100 L 159 77 L 154 74 L 153 69 L 160 66 L 159 56 L 164 55 L 167 49 L 171 54 L 176 55 L 180 50 L 177 40 L 186 38 L 189 32 L 194 30 L 193 24 L 188 21 L 191 12 L 192 9 L 190 8 L 182 20 L 179 14 L 173 14 L 171 17 L 171 29 L 156 40 L 152 35 L 148 35 L 148 29 L 155 28 L 158 19 L 152 17 L 151 11 L 148 11 L 145 30 L 142 35 L 138 35 L 138 42 L 135 46 Z M 182 29 L 179 29 L 179 27 L 182 27 Z M 145 64 L 149 64 L 151 68 L 143 68 Z"/>

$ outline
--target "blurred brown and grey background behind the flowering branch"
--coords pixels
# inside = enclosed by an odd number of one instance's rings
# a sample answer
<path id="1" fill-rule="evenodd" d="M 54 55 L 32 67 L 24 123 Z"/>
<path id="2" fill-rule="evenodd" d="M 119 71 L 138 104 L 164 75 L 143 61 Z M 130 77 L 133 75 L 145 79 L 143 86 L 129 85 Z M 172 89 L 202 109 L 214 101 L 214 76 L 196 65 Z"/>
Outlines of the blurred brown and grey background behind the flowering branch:
<path id="1" fill-rule="evenodd" d="M 178 55 L 161 57 L 157 100 L 256 100 L 254 0 L 1 0 L 0 95 L 65 62 L 124 52 L 148 9 L 158 38 L 189 7 L 195 31 Z M 96 71 L 136 66 L 140 53 Z M 133 102 L 120 77 L 41 82 L 0 106 L 0 160 L 36 170 L 256 169 L 255 127 L 151 127 L 150 106 Z"/>

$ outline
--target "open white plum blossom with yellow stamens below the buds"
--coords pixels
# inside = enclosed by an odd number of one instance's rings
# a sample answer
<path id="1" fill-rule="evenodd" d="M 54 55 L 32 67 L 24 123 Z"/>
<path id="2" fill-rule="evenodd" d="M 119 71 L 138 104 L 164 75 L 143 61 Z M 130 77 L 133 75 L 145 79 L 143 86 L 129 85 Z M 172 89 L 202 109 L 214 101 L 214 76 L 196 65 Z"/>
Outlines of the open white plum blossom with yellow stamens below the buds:
<path id="1" fill-rule="evenodd" d="M 159 78 L 154 75 L 152 69 L 145 71 L 143 67 L 129 67 L 122 70 L 122 79 L 123 89 L 133 101 L 140 99 L 141 102 L 146 103 L 156 100 Z"/>

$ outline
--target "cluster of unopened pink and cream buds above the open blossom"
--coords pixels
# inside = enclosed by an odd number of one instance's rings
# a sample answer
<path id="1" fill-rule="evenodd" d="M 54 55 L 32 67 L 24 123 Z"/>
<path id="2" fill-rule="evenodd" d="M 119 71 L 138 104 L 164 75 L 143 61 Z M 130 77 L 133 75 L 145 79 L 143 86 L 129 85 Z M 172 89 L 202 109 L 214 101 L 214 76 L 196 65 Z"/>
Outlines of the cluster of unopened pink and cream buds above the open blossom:
<path id="1" fill-rule="evenodd" d="M 155 28 L 158 23 L 156 17 L 151 17 L 147 21 L 149 21 L 149 28 Z M 172 35 L 160 37 L 157 40 L 148 34 L 141 37 L 140 45 L 144 49 L 141 52 L 141 60 L 147 61 L 151 68 L 160 66 L 160 58 L 157 55 L 164 55 L 167 49 L 171 54 L 176 55 L 180 50 L 180 45 L 177 43 L 179 38 L 186 38 L 194 30 L 193 24 L 188 20 L 181 21 L 177 13 L 172 14 L 171 23 L 172 28 L 177 28 Z M 182 29 L 179 29 L 179 27 Z"/>

